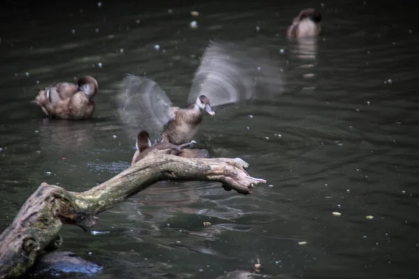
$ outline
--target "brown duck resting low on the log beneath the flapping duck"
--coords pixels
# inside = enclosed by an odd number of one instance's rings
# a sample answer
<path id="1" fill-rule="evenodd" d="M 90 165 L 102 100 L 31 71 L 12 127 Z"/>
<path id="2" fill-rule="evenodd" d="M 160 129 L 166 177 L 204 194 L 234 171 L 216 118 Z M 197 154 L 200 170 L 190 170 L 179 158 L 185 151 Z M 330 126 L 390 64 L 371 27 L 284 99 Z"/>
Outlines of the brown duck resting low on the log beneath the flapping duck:
<path id="1" fill-rule="evenodd" d="M 142 158 L 145 158 L 148 153 L 155 149 L 169 150 L 169 154 L 186 158 L 207 158 L 208 151 L 206 149 L 186 149 L 186 147 L 191 147 L 195 143 L 195 141 L 191 141 L 189 143 L 180 145 L 171 144 L 170 142 L 159 142 L 152 144 L 152 141 L 149 139 L 149 133 L 147 130 L 141 130 L 137 135 L 137 140 L 135 142 L 135 148 L 137 150 L 133 155 L 131 165 L 134 165 Z"/>

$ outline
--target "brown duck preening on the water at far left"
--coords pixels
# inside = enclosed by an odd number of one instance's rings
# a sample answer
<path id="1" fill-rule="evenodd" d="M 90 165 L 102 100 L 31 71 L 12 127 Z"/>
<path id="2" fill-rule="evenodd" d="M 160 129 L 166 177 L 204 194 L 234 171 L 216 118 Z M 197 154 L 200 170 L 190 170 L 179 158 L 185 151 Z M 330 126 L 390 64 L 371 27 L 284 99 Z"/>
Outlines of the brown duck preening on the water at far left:
<path id="1" fill-rule="evenodd" d="M 89 119 L 94 112 L 94 96 L 98 82 L 89 75 L 80 77 L 78 84 L 59 82 L 39 91 L 32 103 L 57 119 Z"/>

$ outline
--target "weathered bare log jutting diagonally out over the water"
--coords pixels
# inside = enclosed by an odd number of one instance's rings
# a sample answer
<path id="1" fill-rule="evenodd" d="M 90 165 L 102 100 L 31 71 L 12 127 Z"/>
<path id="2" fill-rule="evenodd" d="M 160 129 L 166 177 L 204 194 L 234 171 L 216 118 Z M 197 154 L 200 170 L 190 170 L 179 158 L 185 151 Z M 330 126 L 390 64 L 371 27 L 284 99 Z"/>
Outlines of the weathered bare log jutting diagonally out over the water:
<path id="1" fill-rule="evenodd" d="M 219 181 L 226 190 L 249 194 L 253 186 L 266 181 L 249 176 L 247 167 L 240 158 L 191 159 L 154 151 L 124 172 L 82 193 L 41 183 L 0 235 L 0 278 L 21 276 L 41 252 L 57 249 L 63 224 L 75 224 L 87 231 L 97 222 L 98 213 L 156 181 Z"/>

